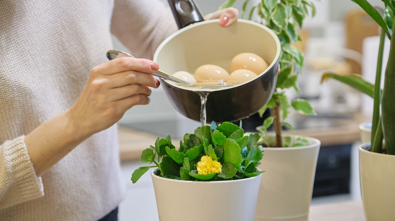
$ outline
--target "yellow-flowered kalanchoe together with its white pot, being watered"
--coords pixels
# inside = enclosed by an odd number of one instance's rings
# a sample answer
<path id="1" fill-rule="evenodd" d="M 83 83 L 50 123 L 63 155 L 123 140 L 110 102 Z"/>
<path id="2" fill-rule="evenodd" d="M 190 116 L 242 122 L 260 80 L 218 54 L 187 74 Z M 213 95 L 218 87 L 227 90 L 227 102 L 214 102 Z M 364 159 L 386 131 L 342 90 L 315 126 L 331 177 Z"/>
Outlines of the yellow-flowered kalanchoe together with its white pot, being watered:
<path id="1" fill-rule="evenodd" d="M 132 174 L 132 182 L 149 169 L 161 221 L 254 220 L 263 156 L 258 134 L 244 135 L 232 123 L 212 123 L 185 134 L 178 149 L 168 135 L 145 149 L 150 163 Z"/>

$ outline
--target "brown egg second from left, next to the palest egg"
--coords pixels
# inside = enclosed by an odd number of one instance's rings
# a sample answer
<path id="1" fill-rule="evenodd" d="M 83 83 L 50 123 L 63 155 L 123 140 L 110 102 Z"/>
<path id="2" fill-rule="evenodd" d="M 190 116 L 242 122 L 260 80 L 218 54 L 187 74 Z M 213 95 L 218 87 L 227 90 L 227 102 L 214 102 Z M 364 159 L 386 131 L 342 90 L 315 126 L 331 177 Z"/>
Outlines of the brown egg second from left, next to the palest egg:
<path id="1" fill-rule="evenodd" d="M 229 73 L 216 65 L 202 65 L 194 74 L 200 82 L 224 82 L 229 78 Z"/>

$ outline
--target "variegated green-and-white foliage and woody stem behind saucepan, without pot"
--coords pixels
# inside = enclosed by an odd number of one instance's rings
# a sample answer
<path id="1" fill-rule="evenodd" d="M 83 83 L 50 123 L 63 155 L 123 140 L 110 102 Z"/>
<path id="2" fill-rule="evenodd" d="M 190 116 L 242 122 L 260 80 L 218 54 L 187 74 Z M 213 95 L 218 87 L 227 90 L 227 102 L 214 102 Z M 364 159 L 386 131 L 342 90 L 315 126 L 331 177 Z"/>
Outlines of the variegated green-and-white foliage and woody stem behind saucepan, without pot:
<path id="1" fill-rule="evenodd" d="M 228 0 L 220 8 L 231 7 L 236 1 Z M 293 130 L 292 125 L 285 122 L 291 108 L 303 115 L 317 115 L 307 100 L 295 99 L 290 102 L 285 94 L 285 89 L 288 88 L 299 90 L 297 79 L 303 66 L 304 55 L 294 45 L 302 40 L 298 30 L 302 28 L 303 21 L 309 13 L 311 16 L 315 15 L 315 7 L 305 0 L 261 0 L 247 12 L 247 6 L 252 2 L 256 1 L 244 0 L 241 17 L 266 25 L 279 37 L 281 43 L 281 71 L 276 88 L 269 102 L 261 108 L 259 113 L 262 116 L 266 108 L 272 108 L 273 117 L 266 119 L 261 129 L 266 131 L 267 127 L 274 123 L 276 134 L 274 145 L 283 147 L 282 126 Z"/>

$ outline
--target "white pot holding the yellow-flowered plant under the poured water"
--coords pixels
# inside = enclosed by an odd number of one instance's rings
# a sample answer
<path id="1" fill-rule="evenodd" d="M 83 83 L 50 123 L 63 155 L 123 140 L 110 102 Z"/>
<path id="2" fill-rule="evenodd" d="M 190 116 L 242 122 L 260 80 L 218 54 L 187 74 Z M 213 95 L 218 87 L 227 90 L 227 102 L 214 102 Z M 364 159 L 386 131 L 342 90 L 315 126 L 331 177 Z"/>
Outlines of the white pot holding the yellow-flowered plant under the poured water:
<path id="1" fill-rule="evenodd" d="M 159 219 L 253 221 L 261 176 L 232 181 L 181 181 L 156 176 L 153 171 Z"/>

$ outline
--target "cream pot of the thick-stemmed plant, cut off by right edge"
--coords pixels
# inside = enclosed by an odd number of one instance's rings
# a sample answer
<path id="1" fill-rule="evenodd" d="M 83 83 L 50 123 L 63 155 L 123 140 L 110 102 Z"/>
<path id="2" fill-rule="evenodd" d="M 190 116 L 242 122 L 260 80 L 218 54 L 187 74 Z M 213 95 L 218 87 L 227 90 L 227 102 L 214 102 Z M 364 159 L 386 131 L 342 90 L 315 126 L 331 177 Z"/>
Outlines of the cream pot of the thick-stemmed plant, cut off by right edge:
<path id="1" fill-rule="evenodd" d="M 367 151 L 360 146 L 360 181 L 367 221 L 395 219 L 395 155 Z"/>

